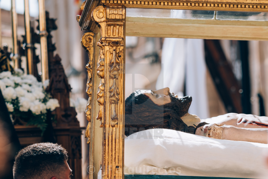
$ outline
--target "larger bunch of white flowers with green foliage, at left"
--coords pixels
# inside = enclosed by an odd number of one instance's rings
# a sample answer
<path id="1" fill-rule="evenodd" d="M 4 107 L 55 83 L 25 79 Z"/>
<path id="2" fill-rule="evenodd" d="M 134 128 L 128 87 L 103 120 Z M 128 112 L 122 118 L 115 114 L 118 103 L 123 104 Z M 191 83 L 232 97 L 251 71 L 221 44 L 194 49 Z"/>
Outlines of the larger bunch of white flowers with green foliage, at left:
<path id="1" fill-rule="evenodd" d="M 46 93 L 42 82 L 38 82 L 33 75 L 24 75 L 23 71 L 15 70 L 0 73 L 0 89 L 5 98 L 10 114 L 24 119 L 27 125 L 36 125 L 42 132 L 47 127 L 47 110 L 53 111 L 59 107 L 57 99 Z"/>

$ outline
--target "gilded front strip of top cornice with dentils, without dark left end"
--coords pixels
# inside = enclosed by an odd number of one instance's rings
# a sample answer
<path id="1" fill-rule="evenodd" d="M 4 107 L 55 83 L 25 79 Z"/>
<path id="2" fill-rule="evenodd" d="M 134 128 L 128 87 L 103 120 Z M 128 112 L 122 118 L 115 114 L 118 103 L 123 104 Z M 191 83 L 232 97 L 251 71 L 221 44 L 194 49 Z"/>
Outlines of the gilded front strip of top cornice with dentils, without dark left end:
<path id="1" fill-rule="evenodd" d="M 103 5 L 121 6 L 126 8 L 151 8 L 151 9 L 191 9 L 191 10 L 224 10 L 224 11 L 268 11 L 267 1 L 258 0 L 168 0 L 168 1 L 118 1 L 102 0 Z"/>

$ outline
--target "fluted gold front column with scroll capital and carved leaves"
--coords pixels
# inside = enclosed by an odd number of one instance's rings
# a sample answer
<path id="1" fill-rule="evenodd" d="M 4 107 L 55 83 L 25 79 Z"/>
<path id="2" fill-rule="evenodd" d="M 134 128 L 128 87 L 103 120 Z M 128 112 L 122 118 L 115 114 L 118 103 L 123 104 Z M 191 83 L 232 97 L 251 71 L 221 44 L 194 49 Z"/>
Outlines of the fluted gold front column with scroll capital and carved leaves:
<path id="1" fill-rule="evenodd" d="M 98 24 L 101 39 L 97 73 L 101 77 L 98 119 L 102 120 L 102 178 L 124 178 L 125 117 L 125 7 L 98 6 L 92 19 Z"/>

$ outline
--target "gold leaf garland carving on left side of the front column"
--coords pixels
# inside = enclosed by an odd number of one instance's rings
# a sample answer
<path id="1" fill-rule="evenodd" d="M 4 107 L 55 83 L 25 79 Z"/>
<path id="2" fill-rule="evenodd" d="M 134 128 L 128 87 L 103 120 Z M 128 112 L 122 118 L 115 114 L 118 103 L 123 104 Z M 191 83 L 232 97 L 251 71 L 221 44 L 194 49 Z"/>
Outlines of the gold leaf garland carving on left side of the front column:
<path id="1" fill-rule="evenodd" d="M 97 63 L 97 75 L 101 78 L 97 91 L 97 101 L 100 109 L 97 116 L 97 120 L 101 121 L 100 127 L 103 127 L 103 103 L 104 103 L 104 46 L 101 42 L 98 42 L 100 48 L 99 59 Z"/>

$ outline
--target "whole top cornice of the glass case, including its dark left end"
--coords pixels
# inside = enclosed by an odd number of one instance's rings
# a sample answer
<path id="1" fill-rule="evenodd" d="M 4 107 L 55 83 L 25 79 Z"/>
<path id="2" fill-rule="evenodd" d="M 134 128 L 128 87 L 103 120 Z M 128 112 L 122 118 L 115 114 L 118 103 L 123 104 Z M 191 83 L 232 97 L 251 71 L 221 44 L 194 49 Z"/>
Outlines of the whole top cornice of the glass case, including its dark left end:
<path id="1" fill-rule="evenodd" d="M 81 30 L 93 32 L 94 23 L 91 20 L 92 10 L 99 5 L 125 6 L 126 8 L 150 9 L 189 9 L 189 10 L 218 10 L 218 11 L 246 11 L 268 12 L 268 1 L 265 0 L 87 0 L 81 17 L 78 17 Z"/>

